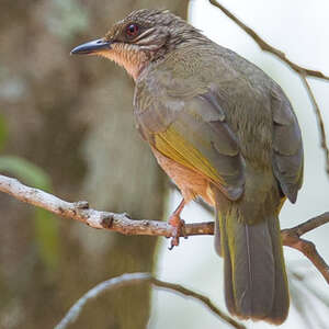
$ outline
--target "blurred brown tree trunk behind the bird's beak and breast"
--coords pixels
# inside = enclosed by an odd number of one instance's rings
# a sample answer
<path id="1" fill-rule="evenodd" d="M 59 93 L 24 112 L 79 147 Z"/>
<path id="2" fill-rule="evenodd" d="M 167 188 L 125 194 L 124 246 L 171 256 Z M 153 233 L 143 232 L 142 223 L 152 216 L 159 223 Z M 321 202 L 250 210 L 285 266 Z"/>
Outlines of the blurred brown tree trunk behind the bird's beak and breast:
<path id="1" fill-rule="evenodd" d="M 159 218 L 164 177 L 135 131 L 132 79 L 110 61 L 69 56 L 138 8 L 168 8 L 185 18 L 188 1 L 2 1 L 0 114 L 9 131 L 4 154 L 43 168 L 55 194 Z M 152 271 L 155 237 L 58 220 L 59 230 L 50 231 L 58 263 L 49 265 L 34 211 L 5 195 L 0 208 L 0 328 L 50 328 L 98 282 Z M 90 303 L 70 328 L 144 329 L 149 306 L 149 285 L 123 288 Z"/>

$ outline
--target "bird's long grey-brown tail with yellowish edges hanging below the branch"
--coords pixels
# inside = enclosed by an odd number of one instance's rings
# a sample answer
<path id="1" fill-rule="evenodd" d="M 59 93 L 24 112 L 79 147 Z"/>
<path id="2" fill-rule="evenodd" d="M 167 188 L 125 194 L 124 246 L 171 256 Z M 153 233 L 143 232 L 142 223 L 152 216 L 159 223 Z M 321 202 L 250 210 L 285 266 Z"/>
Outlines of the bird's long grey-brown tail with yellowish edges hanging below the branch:
<path id="1" fill-rule="evenodd" d="M 230 203 L 216 217 L 228 310 L 241 319 L 282 324 L 290 298 L 277 216 L 249 225 L 240 217 L 238 204 Z"/>

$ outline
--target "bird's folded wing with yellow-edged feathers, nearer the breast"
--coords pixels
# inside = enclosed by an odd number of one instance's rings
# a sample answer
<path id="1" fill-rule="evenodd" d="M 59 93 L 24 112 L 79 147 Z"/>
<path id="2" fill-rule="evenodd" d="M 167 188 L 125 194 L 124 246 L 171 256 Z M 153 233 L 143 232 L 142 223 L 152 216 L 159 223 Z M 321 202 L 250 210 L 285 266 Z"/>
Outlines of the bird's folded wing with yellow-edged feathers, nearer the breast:
<path id="1" fill-rule="evenodd" d="M 228 198 L 241 195 L 245 162 L 215 92 L 180 99 L 139 89 L 135 114 L 141 135 L 158 151 L 207 178 Z"/>

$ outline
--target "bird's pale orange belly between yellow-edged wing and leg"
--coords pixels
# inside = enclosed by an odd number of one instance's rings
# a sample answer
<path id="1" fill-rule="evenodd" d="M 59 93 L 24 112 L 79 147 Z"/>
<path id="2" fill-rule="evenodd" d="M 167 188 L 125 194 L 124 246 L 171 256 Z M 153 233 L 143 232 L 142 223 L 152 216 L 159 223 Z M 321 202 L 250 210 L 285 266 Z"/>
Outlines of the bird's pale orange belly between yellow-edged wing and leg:
<path id="1" fill-rule="evenodd" d="M 202 174 L 163 156 L 155 148 L 151 149 L 160 167 L 180 189 L 185 203 L 189 203 L 196 196 L 201 196 L 208 204 L 215 204 L 208 180 Z"/>

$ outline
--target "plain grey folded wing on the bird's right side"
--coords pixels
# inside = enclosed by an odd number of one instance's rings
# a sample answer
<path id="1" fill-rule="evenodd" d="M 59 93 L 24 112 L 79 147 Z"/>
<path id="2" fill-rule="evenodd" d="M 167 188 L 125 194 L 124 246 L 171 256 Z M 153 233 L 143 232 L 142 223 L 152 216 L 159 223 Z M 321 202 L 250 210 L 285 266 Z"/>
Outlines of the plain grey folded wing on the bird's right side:
<path id="1" fill-rule="evenodd" d="M 302 134 L 288 100 L 272 90 L 273 171 L 282 192 L 292 203 L 303 183 L 304 151 Z"/>

